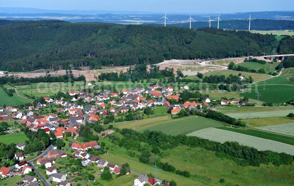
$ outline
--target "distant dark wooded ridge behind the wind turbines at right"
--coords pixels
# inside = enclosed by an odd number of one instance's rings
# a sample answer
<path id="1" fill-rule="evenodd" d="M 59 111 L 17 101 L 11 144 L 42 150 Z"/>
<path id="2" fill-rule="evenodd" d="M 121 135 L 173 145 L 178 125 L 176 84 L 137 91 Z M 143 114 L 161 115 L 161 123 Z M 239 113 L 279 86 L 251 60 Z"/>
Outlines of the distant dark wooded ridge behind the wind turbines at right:
<path id="1" fill-rule="evenodd" d="M 211 19 L 213 18 L 211 17 Z M 245 20 L 246 19 L 222 20 L 219 24 L 219 28 L 230 29 L 230 30 L 248 30 L 249 21 L 245 21 Z M 209 27 L 209 23 L 207 23 L 207 21 L 193 22 L 191 27 L 194 29 Z M 217 21 L 211 22 L 211 27 L 217 27 L 217 25 L 218 25 Z M 172 26 L 180 26 L 180 27 L 189 28 L 190 23 L 173 24 Z M 290 20 L 254 19 L 254 21 L 251 21 L 251 24 L 250 24 L 250 30 L 293 30 L 293 28 L 294 28 L 294 21 L 290 21 Z"/>

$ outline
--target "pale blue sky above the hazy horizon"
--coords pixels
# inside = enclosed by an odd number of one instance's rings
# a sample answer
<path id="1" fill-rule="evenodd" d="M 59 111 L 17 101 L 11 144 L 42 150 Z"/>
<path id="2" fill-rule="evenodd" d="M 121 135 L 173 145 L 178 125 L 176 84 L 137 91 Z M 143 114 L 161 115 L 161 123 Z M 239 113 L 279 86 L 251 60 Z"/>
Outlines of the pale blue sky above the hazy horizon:
<path id="1" fill-rule="evenodd" d="M 294 10 L 293 0 L 0 0 L 0 7 L 51 10 L 110 10 L 188 13 L 230 13 Z"/>

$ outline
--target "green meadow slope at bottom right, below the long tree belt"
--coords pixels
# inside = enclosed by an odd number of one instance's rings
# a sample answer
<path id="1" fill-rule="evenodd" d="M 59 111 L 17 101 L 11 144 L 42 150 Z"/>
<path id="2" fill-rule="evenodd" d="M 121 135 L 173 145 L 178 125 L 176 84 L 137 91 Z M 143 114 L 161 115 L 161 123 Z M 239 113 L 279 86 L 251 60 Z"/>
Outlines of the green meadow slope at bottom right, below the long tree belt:
<path id="1" fill-rule="evenodd" d="M 100 139 L 110 148 L 108 154 L 101 155 L 102 159 L 122 165 L 126 162 L 131 166 L 132 170 L 141 173 L 152 173 L 154 168 L 139 162 L 138 157 L 131 157 L 127 153 L 135 152 L 136 155 L 141 153 L 138 151 L 127 150 L 111 143 L 108 138 Z M 237 165 L 233 160 L 226 158 L 218 158 L 215 152 L 203 148 L 191 148 L 179 145 L 176 148 L 164 150 L 161 152 L 160 160 L 180 170 L 188 170 L 191 178 L 182 177 L 162 169 L 157 169 L 158 179 L 175 180 L 178 186 L 186 185 L 272 185 L 272 186 L 290 186 L 293 183 L 294 166 L 281 165 L 260 165 L 260 167 L 243 167 Z M 213 163 L 212 163 L 213 162 Z M 232 174 L 232 171 L 239 174 Z M 218 181 L 223 178 L 225 184 Z"/>

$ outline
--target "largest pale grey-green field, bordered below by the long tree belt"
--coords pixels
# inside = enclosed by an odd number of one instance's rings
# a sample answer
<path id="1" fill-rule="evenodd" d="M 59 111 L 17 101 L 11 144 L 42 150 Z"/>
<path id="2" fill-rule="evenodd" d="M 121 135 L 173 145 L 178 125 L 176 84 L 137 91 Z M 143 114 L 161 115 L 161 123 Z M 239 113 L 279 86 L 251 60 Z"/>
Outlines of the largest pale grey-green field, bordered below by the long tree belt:
<path id="1" fill-rule="evenodd" d="M 255 136 L 235 133 L 228 130 L 217 128 L 206 128 L 188 134 L 189 136 L 198 136 L 200 138 L 224 143 L 226 141 L 236 141 L 242 145 L 254 147 L 258 150 L 272 150 L 278 153 L 287 153 L 294 155 L 294 146 L 278 141 L 258 138 Z"/>

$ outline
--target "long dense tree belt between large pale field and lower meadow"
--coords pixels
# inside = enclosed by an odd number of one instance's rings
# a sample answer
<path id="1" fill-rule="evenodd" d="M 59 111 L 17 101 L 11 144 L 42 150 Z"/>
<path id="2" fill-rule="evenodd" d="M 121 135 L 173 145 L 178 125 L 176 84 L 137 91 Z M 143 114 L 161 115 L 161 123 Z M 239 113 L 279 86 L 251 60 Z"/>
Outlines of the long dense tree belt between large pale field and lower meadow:
<path id="1" fill-rule="evenodd" d="M 138 150 L 143 154 L 151 154 L 158 152 L 157 148 L 168 149 L 174 148 L 178 143 L 190 147 L 201 147 L 207 150 L 216 152 L 217 157 L 227 157 L 234 160 L 241 166 L 260 166 L 260 164 L 273 163 L 276 166 L 279 165 L 291 165 L 293 163 L 293 155 L 286 153 L 276 153 L 270 150 L 258 151 L 253 147 L 240 145 L 238 142 L 225 142 L 223 144 L 199 138 L 196 136 L 166 135 L 162 132 L 145 130 L 143 133 L 138 133 L 131 129 L 122 129 L 120 132 L 124 138 L 114 140 L 114 143 L 118 143 L 127 149 Z M 141 143 L 147 143 L 152 148 L 142 149 Z M 151 149 L 151 150 L 150 150 Z M 159 151 L 160 152 L 160 151 Z M 151 156 L 150 156 L 151 157 Z M 156 158 L 151 158 L 154 160 Z M 149 160 L 149 158 L 148 158 Z M 159 167 L 163 168 L 162 163 L 159 160 Z M 171 167 L 171 170 L 175 170 Z"/>

